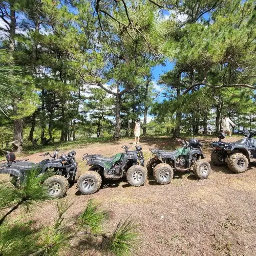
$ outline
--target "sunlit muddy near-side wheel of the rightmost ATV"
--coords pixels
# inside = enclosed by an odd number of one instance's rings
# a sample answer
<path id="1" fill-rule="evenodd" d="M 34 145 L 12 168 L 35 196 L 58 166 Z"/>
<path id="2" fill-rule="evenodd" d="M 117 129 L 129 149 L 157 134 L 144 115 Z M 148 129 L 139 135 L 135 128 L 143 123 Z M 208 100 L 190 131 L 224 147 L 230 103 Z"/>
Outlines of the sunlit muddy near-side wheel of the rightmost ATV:
<path id="1" fill-rule="evenodd" d="M 242 153 L 232 154 L 227 158 L 227 166 L 236 174 L 244 173 L 248 168 L 247 157 Z"/>

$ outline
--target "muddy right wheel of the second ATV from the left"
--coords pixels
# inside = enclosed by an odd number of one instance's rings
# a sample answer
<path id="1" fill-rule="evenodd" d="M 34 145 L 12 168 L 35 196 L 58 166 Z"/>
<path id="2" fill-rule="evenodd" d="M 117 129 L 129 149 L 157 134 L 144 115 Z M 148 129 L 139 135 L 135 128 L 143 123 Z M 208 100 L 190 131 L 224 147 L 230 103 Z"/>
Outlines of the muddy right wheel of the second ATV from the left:
<path id="1" fill-rule="evenodd" d="M 126 173 L 126 179 L 131 186 L 139 187 L 146 182 L 146 168 L 141 165 L 131 166 Z"/>

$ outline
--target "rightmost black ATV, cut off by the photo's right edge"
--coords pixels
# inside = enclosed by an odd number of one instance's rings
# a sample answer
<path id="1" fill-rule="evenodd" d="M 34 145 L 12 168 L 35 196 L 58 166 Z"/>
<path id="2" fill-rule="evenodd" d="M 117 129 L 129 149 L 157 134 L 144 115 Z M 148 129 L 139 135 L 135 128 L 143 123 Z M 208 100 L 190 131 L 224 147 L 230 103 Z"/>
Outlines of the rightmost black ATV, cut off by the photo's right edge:
<path id="1" fill-rule="evenodd" d="M 219 141 L 211 143 L 215 148 L 211 153 L 211 162 L 217 166 L 227 164 L 234 173 L 244 173 L 249 162 L 256 159 L 256 139 L 252 138 L 255 133 L 244 133 L 245 138 L 236 142 L 223 142 L 226 136 L 219 133 Z"/>

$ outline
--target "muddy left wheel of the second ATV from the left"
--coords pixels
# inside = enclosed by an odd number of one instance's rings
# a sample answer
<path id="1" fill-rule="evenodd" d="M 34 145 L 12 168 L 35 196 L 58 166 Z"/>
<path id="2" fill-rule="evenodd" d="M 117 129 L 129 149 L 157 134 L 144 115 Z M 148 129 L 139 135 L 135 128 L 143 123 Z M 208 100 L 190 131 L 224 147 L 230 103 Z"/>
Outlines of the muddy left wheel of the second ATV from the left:
<path id="1" fill-rule="evenodd" d="M 101 176 L 93 170 L 82 174 L 77 181 L 77 188 L 83 195 L 90 195 L 97 192 L 101 186 Z"/>

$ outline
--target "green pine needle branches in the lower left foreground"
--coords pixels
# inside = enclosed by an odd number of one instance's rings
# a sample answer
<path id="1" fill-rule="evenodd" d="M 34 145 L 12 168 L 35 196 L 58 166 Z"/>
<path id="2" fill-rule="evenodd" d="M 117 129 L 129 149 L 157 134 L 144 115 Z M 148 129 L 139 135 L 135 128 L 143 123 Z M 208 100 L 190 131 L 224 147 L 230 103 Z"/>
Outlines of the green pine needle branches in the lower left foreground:
<path id="1" fill-rule="evenodd" d="M 18 186 L 0 183 L 0 209 L 4 211 L 0 220 L 1 255 L 60 255 L 71 249 L 73 239 L 87 236 L 104 238 L 107 245 L 105 249 L 113 255 L 128 255 L 133 251 L 138 238 L 135 231 L 137 225 L 127 220 L 123 224 L 119 223 L 113 234 L 102 232 L 109 212 L 100 209 L 99 203 L 93 200 L 89 200 L 83 212 L 74 219 L 65 217 L 72 204 L 63 199 L 57 200 L 56 219 L 46 227 L 34 227 L 32 221 L 25 222 L 23 219 L 12 221 L 9 218 L 7 221 L 6 217 L 18 207 L 24 207 L 28 212 L 36 204 L 49 199 L 48 191 L 41 184 L 47 177 L 32 170 Z"/>

